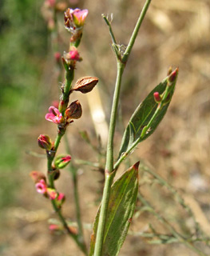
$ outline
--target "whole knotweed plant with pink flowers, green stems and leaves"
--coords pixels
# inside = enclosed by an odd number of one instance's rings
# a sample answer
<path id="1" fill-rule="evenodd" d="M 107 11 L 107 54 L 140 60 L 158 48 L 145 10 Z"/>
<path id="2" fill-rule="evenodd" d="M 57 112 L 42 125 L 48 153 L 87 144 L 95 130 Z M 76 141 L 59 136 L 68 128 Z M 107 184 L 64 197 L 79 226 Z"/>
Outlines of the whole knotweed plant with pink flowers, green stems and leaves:
<path id="1" fill-rule="evenodd" d="M 154 215 L 160 219 L 161 222 L 168 227 L 172 232 L 172 235 L 176 242 L 182 242 L 190 249 L 194 250 L 197 254 L 203 254 L 199 249 L 192 245 L 187 239 L 178 234 L 176 230 L 156 214 L 153 207 L 142 198 L 138 191 L 139 179 L 138 172 L 139 166 L 141 170 L 145 170 L 154 178 L 160 182 L 162 186 L 166 186 L 172 194 L 176 194 L 176 191 L 168 185 L 164 179 L 160 178 L 152 170 L 147 169 L 142 163 L 136 162 L 133 166 L 130 166 L 128 170 L 125 170 L 115 182 L 113 179 L 117 173 L 118 167 L 126 158 L 129 157 L 137 147 L 137 145 L 149 138 L 156 130 L 157 126 L 164 118 L 168 106 L 172 100 L 172 94 L 175 90 L 176 80 L 178 76 L 178 68 L 168 70 L 166 78 L 163 79 L 145 98 L 143 102 L 134 111 L 131 116 L 128 126 L 125 128 L 125 133 L 122 136 L 121 148 L 118 153 L 118 158 L 113 157 L 113 139 L 115 134 L 115 126 L 117 121 L 117 108 L 119 105 L 120 91 L 122 75 L 125 70 L 126 62 L 128 62 L 129 55 L 133 49 L 133 44 L 137 38 L 138 31 L 140 30 L 141 23 L 145 18 L 145 14 L 149 8 L 151 0 L 146 0 L 141 14 L 137 20 L 137 24 L 133 30 L 133 34 L 129 40 L 129 44 L 125 47 L 125 51 L 121 51 L 121 46 L 117 44 L 116 38 L 113 34 L 113 29 L 109 19 L 102 15 L 105 23 L 109 27 L 109 34 L 112 38 L 112 48 L 117 59 L 117 78 L 115 83 L 115 89 L 113 94 L 113 106 L 110 114 L 109 121 L 109 138 L 107 143 L 106 157 L 105 157 L 105 186 L 102 195 L 101 205 L 97 211 L 96 218 L 93 223 L 93 233 L 90 238 L 89 250 L 85 245 L 85 239 L 82 231 L 81 214 L 79 207 L 79 198 L 77 194 L 77 169 L 71 162 L 72 156 L 70 154 L 57 155 L 57 148 L 61 142 L 61 138 L 65 137 L 65 132 L 69 129 L 69 124 L 73 125 L 73 122 L 81 118 L 82 108 L 81 103 L 76 100 L 69 103 L 69 98 L 75 91 L 79 91 L 82 94 L 86 94 L 93 90 L 97 85 L 97 77 L 85 76 L 79 78 L 73 86 L 74 71 L 77 66 L 77 62 L 81 62 L 82 58 L 78 52 L 78 46 L 80 45 L 83 28 L 85 25 L 85 18 L 88 15 L 88 10 L 80 9 L 67 9 L 64 14 L 64 25 L 70 33 L 69 50 L 64 52 L 62 58 L 61 54 L 57 52 L 57 46 L 55 46 L 54 57 L 59 63 L 61 58 L 62 66 L 65 70 L 65 81 L 61 86 L 61 96 L 58 106 L 50 106 L 49 113 L 46 114 L 46 120 L 53 122 L 57 125 L 57 137 L 53 141 L 48 135 L 41 134 L 38 137 L 38 146 L 43 150 L 46 150 L 47 158 L 47 175 L 38 171 L 31 172 L 31 177 L 34 179 L 35 187 L 38 193 L 43 194 L 46 198 L 50 199 L 53 205 L 53 210 L 60 218 L 59 223 L 52 223 L 50 230 L 66 230 L 71 238 L 77 243 L 78 248 L 89 256 L 101 256 L 110 255 L 115 256 L 121 250 L 121 246 L 125 241 L 126 235 L 129 231 L 129 226 L 133 218 L 133 213 L 137 204 L 137 199 L 145 205 L 147 209 L 154 212 Z M 53 14 L 56 14 L 57 6 L 56 1 L 46 0 L 47 8 L 53 10 Z M 48 20 L 48 26 L 52 33 L 56 33 L 56 21 L 57 18 L 53 16 Z M 53 26 L 52 26 L 53 24 Z M 83 134 L 84 135 L 84 134 Z M 85 136 L 85 135 L 84 135 Z M 67 150 L 69 147 L 67 145 Z M 74 182 L 74 198 L 77 212 L 77 229 L 72 228 L 69 222 L 63 216 L 61 209 L 65 202 L 65 194 L 62 194 L 57 190 L 55 186 L 55 180 L 60 176 L 60 169 L 69 165 L 71 173 L 73 174 Z M 180 197 L 181 206 L 188 209 L 188 212 L 192 214 L 192 211 L 184 204 L 184 201 Z M 193 216 L 193 214 L 192 214 Z M 196 222 L 196 221 L 195 221 Z M 155 233 L 155 232 L 154 232 Z M 157 235 L 157 234 L 156 234 Z M 143 235 L 142 235 L 143 236 Z M 155 236 L 155 235 L 154 235 Z M 164 236 L 165 238 L 166 236 Z M 160 236 L 160 239 L 162 237 Z M 170 236 L 168 239 L 171 238 Z M 175 241 L 174 240 L 174 241 Z M 163 240 L 160 240 L 163 241 Z M 196 241 L 196 240 L 195 240 Z"/>

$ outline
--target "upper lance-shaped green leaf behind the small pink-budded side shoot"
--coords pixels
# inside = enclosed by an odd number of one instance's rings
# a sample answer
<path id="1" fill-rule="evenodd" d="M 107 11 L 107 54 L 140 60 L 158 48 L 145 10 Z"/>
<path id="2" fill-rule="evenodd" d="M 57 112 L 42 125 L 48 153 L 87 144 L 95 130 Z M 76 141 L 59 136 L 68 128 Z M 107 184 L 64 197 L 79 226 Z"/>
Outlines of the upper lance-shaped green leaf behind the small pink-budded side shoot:
<path id="1" fill-rule="evenodd" d="M 158 86 L 156 86 L 149 95 L 145 98 L 143 102 L 137 109 L 134 111 L 132 117 L 129 120 L 129 124 L 125 129 L 125 133 L 121 142 L 121 149 L 119 152 L 119 158 L 121 154 L 129 152 L 132 149 L 133 145 L 148 138 L 151 134 L 153 134 L 154 130 L 156 130 L 157 126 L 164 118 L 164 114 L 166 113 L 168 106 L 172 99 L 172 94 L 176 85 L 176 78 L 178 74 L 178 69 L 174 70 L 167 78 L 164 78 L 162 82 Z M 158 103 L 154 99 L 154 93 L 159 93 L 162 98 L 164 98 L 164 94 L 167 93 L 168 97 L 166 100 L 161 103 L 159 111 L 157 111 Z M 154 116 L 155 114 L 155 116 Z M 142 130 L 149 125 L 149 122 L 153 118 L 153 122 L 150 123 L 149 129 L 146 132 L 142 133 Z"/>

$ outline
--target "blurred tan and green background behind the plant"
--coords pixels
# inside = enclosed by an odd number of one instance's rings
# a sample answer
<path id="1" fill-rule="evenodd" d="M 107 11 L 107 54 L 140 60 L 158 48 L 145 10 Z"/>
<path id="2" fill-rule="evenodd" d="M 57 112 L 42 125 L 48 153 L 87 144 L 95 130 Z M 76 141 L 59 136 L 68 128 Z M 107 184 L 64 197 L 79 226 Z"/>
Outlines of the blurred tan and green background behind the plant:
<path id="1" fill-rule="evenodd" d="M 47 2 L 47 1 L 46 1 Z M 69 0 L 63 6 L 88 9 L 79 51 L 75 81 L 85 75 L 100 82 L 90 94 L 75 94 L 83 116 L 68 130 L 73 158 L 97 162 L 97 154 L 81 138 L 85 130 L 94 146 L 107 139 L 107 127 L 116 76 L 116 59 L 111 50 L 108 27 L 101 14 L 113 14 L 113 31 L 124 50 L 144 4 L 140 0 Z M 58 9 L 59 9 L 58 8 Z M 50 234 L 49 218 L 55 217 L 50 202 L 38 194 L 30 179 L 31 170 L 46 172 L 46 159 L 29 151 L 38 148 L 39 134 L 56 135 L 56 126 L 45 114 L 58 99 L 57 51 L 68 51 L 69 34 L 63 26 L 63 12 L 57 12 L 57 34 L 50 33 L 50 9 L 44 0 L 2 0 L 0 2 L 0 254 L 2 256 L 79 256 L 77 247 L 65 235 Z M 182 195 L 196 216 L 200 228 L 210 236 L 210 2 L 209 0 L 152 1 L 127 63 L 117 121 L 116 156 L 121 136 L 133 110 L 166 76 L 168 67 L 180 74 L 168 113 L 156 132 L 138 146 L 131 164 L 144 159 Z M 58 40 L 58 41 L 57 41 Z M 58 82 L 59 81 L 59 82 Z M 59 152 L 64 152 L 61 143 Z M 103 166 L 103 159 L 101 160 Z M 79 166 L 81 211 L 85 223 L 92 223 L 101 198 L 103 176 L 89 166 Z M 125 168 L 122 168 L 125 170 Z M 144 175 L 143 175 L 144 176 Z M 66 194 L 64 214 L 75 219 L 72 182 L 62 170 L 57 186 Z M 192 218 L 180 210 L 174 198 L 161 187 L 146 184 L 141 193 L 170 222 L 179 223 L 188 234 L 194 232 Z M 135 218 L 131 230 L 149 230 L 154 216 Z M 153 223 L 164 230 L 160 223 Z M 180 228 L 180 227 L 177 227 Z M 85 230 L 89 242 L 90 230 Z M 181 244 L 150 245 L 148 239 L 130 236 L 120 255 L 196 255 Z M 200 250 L 210 254 L 204 243 Z"/>

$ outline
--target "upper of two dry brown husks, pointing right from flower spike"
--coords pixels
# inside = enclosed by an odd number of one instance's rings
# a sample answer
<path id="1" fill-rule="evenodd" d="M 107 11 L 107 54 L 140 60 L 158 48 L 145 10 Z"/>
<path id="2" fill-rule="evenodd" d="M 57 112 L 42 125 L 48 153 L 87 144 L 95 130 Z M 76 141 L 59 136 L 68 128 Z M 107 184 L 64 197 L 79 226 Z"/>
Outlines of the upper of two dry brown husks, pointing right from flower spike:
<path id="1" fill-rule="evenodd" d="M 80 91 L 82 94 L 89 93 L 93 90 L 94 86 L 97 85 L 98 78 L 96 77 L 82 77 L 79 78 L 76 82 L 76 85 L 73 87 L 73 90 Z"/>

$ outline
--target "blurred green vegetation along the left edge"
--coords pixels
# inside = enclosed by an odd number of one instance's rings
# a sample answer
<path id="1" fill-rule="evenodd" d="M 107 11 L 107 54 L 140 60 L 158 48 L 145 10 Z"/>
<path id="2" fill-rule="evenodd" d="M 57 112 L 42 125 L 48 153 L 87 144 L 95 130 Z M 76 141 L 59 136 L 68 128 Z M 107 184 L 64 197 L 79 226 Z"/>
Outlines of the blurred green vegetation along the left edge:
<path id="1" fill-rule="evenodd" d="M 38 90 L 47 30 L 42 1 L 0 2 L 0 207 L 14 202 L 21 185 L 18 170 L 30 141 L 24 136 L 37 123 Z"/>

